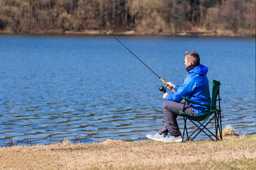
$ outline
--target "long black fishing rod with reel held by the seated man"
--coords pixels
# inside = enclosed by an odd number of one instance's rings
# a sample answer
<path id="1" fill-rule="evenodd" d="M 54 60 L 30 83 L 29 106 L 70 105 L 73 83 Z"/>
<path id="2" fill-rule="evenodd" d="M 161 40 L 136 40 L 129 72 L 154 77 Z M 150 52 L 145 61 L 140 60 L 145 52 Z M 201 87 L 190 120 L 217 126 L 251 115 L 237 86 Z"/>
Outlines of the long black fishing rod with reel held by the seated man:
<path id="1" fill-rule="evenodd" d="M 82 8 L 80 5 L 78 5 L 82 11 L 85 11 L 84 8 Z M 136 57 L 140 62 L 142 62 L 142 60 L 139 59 L 139 57 L 137 57 L 137 55 L 135 55 L 131 50 L 129 50 L 129 48 L 127 46 L 125 46 L 120 40 L 118 40 L 118 38 L 116 36 L 114 36 L 109 30 L 107 30 L 107 28 L 104 28 L 102 26 L 102 24 L 100 24 L 95 18 L 93 18 L 90 13 L 88 13 L 87 11 L 85 11 L 85 13 L 87 13 L 88 16 L 90 16 L 90 18 L 92 18 L 97 24 L 99 24 L 100 28 L 104 29 L 107 31 L 107 33 L 109 33 L 115 40 L 117 40 L 123 47 L 125 47 L 129 52 L 132 53 L 132 55 L 134 55 L 134 57 Z M 152 73 L 154 73 L 156 75 L 156 77 L 158 77 L 164 84 L 166 84 L 166 81 L 164 81 L 164 79 L 162 79 L 161 77 L 159 77 L 159 75 L 157 75 L 152 69 L 150 69 L 144 62 L 142 62 L 142 64 L 144 64 L 144 66 L 146 66 Z M 163 89 L 164 86 L 161 86 L 159 88 L 160 91 L 163 91 L 164 93 L 166 92 L 166 89 Z M 172 91 L 174 91 L 174 89 L 171 89 Z M 175 92 L 175 91 L 174 91 Z"/>

